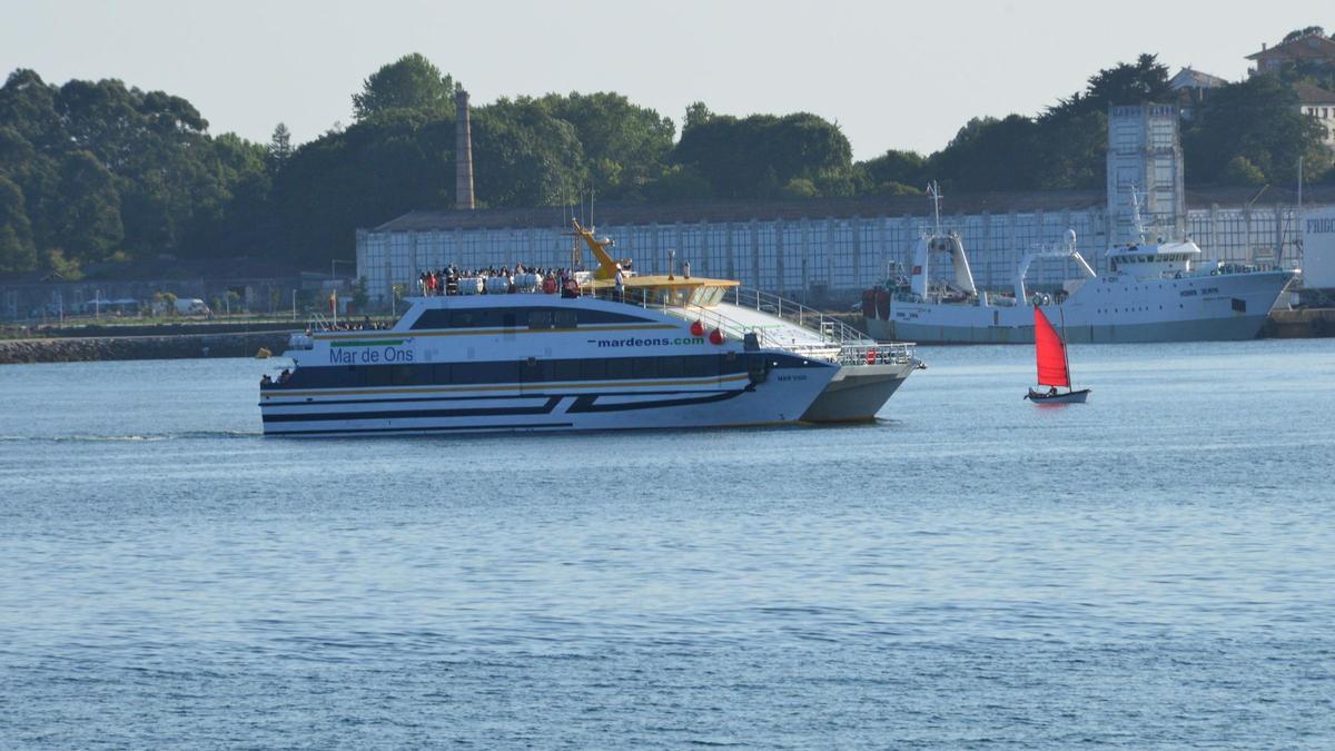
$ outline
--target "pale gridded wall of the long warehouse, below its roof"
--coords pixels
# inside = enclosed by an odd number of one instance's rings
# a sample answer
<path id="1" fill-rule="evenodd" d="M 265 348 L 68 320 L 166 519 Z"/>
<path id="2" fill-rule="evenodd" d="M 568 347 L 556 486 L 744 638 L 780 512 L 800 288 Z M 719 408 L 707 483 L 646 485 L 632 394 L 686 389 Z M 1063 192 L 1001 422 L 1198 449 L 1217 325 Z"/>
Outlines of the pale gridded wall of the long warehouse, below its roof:
<path id="1" fill-rule="evenodd" d="M 1299 227 L 1291 206 L 1211 207 L 1187 212 L 1187 231 L 1210 258 L 1279 261 L 1300 265 Z M 1009 289 L 1015 269 L 1031 247 L 1059 242 L 1076 231 L 1080 253 L 1099 271 L 1109 247 L 1103 208 L 1009 214 L 955 214 L 941 218 L 960 233 L 977 282 Z M 853 216 L 798 220 L 677 222 L 669 224 L 601 226 L 613 238 L 614 255 L 629 257 L 642 274 L 668 270 L 668 251 L 690 261 L 698 275 L 724 277 L 746 286 L 801 295 L 808 290 L 854 293 L 882 281 L 890 262 L 908 263 L 908 253 L 924 216 Z M 563 227 L 430 230 L 356 235 L 358 275 L 366 277 L 372 298 L 387 302 L 392 285 L 415 294 L 418 274 L 450 263 L 461 267 L 543 267 L 570 265 L 571 237 Z M 589 259 L 585 254 L 586 262 Z M 1057 283 L 1076 275 L 1068 262 L 1041 262 L 1029 271 L 1031 285 Z"/>

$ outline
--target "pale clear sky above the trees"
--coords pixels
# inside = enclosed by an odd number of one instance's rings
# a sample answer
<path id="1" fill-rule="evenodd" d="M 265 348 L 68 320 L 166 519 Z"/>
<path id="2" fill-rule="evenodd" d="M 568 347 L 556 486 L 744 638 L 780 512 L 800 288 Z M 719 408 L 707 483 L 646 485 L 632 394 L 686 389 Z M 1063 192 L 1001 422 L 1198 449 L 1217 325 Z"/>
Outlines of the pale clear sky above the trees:
<path id="1" fill-rule="evenodd" d="M 1207 9 L 1208 8 L 1208 9 Z M 850 3 L 0 0 L 0 68 L 48 83 L 119 78 L 192 102 L 210 132 L 307 142 L 352 120 L 351 95 L 422 52 L 475 104 L 617 91 L 672 118 L 809 111 L 857 159 L 941 148 L 969 118 L 1032 115 L 1099 68 L 1157 52 L 1227 79 L 1330 1 Z"/>

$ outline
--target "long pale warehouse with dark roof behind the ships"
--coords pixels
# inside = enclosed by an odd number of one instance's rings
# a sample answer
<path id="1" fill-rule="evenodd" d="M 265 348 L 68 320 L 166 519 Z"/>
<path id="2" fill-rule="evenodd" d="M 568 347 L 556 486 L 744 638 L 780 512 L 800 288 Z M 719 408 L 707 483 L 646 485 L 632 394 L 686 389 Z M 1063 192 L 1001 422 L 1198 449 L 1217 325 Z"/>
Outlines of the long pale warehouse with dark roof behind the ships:
<path id="1" fill-rule="evenodd" d="M 1271 200 L 1267 194 L 1274 194 Z M 1335 194 L 1316 195 L 1335 204 Z M 945 196 L 943 226 L 960 233 L 980 285 L 1007 289 L 1027 250 L 1076 231 L 1080 253 L 1105 270 L 1109 238 L 1101 192 Z M 1218 190 L 1187 194 L 1187 235 L 1211 258 L 1300 266 L 1300 227 L 1286 191 Z M 738 279 L 810 302 L 852 301 L 884 281 L 892 263 L 932 222 L 924 196 L 857 200 L 726 202 L 614 206 L 597 210 L 598 235 L 615 241 L 639 273 L 668 270 L 669 251 L 693 273 Z M 1167 234 L 1167 233 L 1165 233 Z M 356 235 L 358 275 L 382 305 L 394 285 L 414 294 L 426 269 L 534 263 L 570 265 L 569 212 L 561 208 L 414 211 Z M 1048 262 L 1031 270 L 1036 285 L 1073 269 Z"/>

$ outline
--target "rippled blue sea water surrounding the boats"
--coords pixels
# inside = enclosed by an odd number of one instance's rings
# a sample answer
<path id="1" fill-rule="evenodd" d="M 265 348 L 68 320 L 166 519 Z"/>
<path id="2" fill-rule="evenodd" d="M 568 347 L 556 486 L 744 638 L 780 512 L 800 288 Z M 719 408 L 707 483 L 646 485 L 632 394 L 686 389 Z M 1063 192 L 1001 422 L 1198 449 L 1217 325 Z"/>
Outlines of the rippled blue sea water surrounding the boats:
<path id="1" fill-rule="evenodd" d="M 874 425 L 274 440 L 0 367 L 0 747 L 1331 747 L 1335 341 L 921 349 Z"/>

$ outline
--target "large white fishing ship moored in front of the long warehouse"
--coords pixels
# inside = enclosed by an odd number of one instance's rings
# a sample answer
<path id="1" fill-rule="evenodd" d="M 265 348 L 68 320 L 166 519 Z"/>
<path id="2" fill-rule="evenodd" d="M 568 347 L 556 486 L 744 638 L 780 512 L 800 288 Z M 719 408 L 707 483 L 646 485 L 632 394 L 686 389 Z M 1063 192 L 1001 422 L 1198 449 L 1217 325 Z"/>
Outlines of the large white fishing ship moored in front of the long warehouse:
<path id="1" fill-rule="evenodd" d="M 980 290 L 955 233 L 924 234 L 913 267 L 866 290 L 862 314 L 876 339 L 940 343 L 1033 342 L 1033 306 L 1057 309 L 1068 342 L 1181 342 L 1254 339 L 1298 270 L 1203 261 L 1191 241 L 1141 241 L 1107 251 L 1108 273 L 1097 274 L 1076 250 L 1075 231 L 1056 247 L 1025 254 L 1013 287 Z M 940 212 L 937 211 L 937 216 Z M 933 279 L 933 255 L 949 255 L 953 279 Z M 1068 259 L 1080 278 L 1055 294 L 1031 291 L 1025 275 L 1035 261 Z"/>

